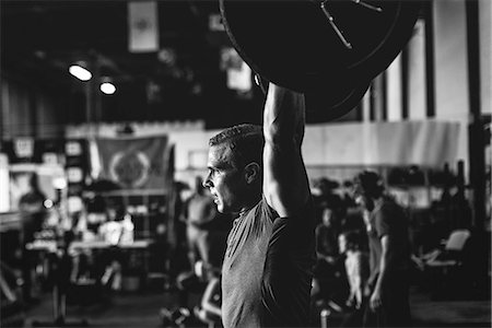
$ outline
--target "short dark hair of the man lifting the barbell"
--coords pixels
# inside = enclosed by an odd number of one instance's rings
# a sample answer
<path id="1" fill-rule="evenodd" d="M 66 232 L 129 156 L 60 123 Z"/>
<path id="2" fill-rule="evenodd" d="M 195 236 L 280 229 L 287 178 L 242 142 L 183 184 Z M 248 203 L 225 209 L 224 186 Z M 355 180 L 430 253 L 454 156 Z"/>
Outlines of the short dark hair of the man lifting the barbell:
<path id="1" fill-rule="evenodd" d="M 244 167 L 255 162 L 262 166 L 265 137 L 261 126 L 243 124 L 227 128 L 210 138 L 209 145 L 226 145 L 233 153 L 233 165 Z"/>

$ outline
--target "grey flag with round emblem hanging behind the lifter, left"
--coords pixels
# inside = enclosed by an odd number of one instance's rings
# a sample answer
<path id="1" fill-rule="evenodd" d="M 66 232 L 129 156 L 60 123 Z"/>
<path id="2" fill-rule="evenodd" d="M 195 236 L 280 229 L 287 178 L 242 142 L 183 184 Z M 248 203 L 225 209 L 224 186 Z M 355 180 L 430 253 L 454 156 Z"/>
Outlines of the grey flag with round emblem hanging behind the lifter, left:
<path id="1" fill-rule="evenodd" d="M 171 183 L 167 137 L 95 139 L 91 156 L 99 166 L 99 179 L 122 189 L 165 189 Z"/>

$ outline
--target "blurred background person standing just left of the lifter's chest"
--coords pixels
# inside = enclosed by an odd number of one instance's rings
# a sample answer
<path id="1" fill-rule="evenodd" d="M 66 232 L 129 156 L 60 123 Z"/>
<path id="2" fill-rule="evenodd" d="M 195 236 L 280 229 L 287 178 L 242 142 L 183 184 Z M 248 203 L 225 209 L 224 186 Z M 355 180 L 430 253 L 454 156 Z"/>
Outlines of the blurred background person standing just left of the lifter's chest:
<path id="1" fill-rule="evenodd" d="M 191 270 L 198 260 L 210 265 L 210 223 L 216 215 L 213 198 L 202 186 L 202 178 L 195 178 L 195 191 L 185 204 L 186 236 L 188 239 L 188 258 Z"/>

